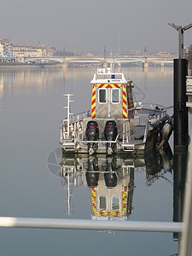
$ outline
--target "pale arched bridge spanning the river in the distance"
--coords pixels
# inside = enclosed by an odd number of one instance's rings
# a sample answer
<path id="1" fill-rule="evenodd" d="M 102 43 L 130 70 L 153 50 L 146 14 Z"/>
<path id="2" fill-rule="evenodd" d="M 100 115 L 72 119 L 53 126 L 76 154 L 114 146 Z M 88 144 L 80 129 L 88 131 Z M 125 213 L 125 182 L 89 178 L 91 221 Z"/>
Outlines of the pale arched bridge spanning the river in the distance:
<path id="1" fill-rule="evenodd" d="M 84 56 L 71 56 L 71 57 L 25 57 L 25 62 L 30 61 L 56 61 L 62 63 L 62 67 L 67 67 L 69 62 L 80 63 L 93 63 L 102 62 L 103 67 L 113 67 L 113 65 L 120 66 L 120 63 L 125 62 L 142 62 L 144 67 L 148 67 L 149 62 L 172 63 L 175 56 L 130 56 L 130 57 L 84 57 Z"/>

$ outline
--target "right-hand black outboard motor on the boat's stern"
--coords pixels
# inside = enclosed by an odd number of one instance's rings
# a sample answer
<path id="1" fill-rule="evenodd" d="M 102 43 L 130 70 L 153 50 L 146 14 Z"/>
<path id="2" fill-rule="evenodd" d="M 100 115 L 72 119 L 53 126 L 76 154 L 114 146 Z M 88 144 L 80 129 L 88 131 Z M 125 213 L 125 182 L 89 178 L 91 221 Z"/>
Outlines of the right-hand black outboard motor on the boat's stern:
<path id="1" fill-rule="evenodd" d="M 107 141 L 114 141 L 118 135 L 115 121 L 107 121 L 105 124 L 104 136 Z M 107 153 L 112 154 L 116 149 L 116 143 L 107 143 Z"/>

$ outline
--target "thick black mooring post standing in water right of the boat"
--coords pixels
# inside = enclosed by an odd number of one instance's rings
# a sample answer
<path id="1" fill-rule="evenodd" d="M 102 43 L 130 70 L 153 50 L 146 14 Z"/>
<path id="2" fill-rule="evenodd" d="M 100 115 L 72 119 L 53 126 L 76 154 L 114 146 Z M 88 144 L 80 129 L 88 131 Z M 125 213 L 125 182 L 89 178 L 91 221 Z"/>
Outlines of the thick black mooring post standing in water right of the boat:
<path id="1" fill-rule="evenodd" d="M 174 149 L 185 151 L 189 140 L 188 108 L 186 107 L 186 76 L 188 62 L 174 59 Z"/>

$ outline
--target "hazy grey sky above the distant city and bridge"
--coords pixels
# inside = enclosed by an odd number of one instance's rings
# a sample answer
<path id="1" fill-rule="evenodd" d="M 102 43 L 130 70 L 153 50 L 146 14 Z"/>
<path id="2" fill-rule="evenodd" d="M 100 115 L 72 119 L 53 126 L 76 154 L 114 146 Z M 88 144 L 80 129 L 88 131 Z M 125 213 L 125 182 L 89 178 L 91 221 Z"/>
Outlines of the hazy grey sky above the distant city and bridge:
<path id="1" fill-rule="evenodd" d="M 192 23 L 192 0 L 0 0 L 0 38 L 66 50 L 177 50 L 177 26 Z M 118 32 L 119 31 L 119 32 Z M 118 39 L 119 33 L 119 39 Z M 192 28 L 184 33 L 192 44 Z"/>

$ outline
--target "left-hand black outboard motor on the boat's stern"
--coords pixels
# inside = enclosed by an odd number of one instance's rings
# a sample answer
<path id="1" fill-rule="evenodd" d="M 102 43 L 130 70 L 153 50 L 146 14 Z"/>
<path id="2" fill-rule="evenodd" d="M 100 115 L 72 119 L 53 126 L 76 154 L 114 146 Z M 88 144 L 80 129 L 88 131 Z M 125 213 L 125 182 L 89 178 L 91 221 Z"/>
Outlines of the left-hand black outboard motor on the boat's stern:
<path id="1" fill-rule="evenodd" d="M 99 138 L 99 128 L 96 121 L 89 121 L 86 128 L 86 137 L 88 141 L 97 141 Z M 89 154 L 94 154 L 98 148 L 97 143 L 88 143 Z"/>

